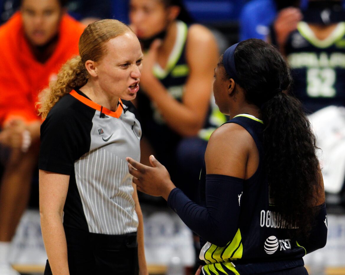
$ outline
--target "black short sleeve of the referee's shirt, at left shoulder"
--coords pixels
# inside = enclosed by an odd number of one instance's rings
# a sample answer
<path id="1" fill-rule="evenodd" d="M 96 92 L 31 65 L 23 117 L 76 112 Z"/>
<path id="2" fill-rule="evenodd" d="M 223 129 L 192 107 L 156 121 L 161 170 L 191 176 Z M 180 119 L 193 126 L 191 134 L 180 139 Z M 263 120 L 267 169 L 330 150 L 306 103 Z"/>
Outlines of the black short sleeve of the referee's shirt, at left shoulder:
<path id="1" fill-rule="evenodd" d="M 68 112 L 54 112 L 41 125 L 41 145 L 39 169 L 71 174 L 75 160 L 90 148 L 90 131 L 92 123 L 85 124 L 80 118 Z M 88 132 L 89 131 L 89 132 Z"/>

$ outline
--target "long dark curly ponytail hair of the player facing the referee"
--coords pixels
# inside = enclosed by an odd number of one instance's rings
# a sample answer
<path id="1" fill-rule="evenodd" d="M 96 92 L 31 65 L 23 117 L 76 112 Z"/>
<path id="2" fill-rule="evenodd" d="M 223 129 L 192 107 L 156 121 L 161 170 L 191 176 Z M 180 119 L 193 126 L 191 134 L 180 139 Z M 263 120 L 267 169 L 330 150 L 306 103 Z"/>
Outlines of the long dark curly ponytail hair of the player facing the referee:
<path id="1" fill-rule="evenodd" d="M 246 100 L 260 107 L 270 195 L 278 211 L 299 229 L 294 239 L 311 229 L 320 196 L 315 136 L 302 104 L 287 94 L 292 78 L 278 50 L 258 39 L 240 42 L 235 50 L 238 85 Z M 283 92 L 282 92 L 283 90 Z"/>

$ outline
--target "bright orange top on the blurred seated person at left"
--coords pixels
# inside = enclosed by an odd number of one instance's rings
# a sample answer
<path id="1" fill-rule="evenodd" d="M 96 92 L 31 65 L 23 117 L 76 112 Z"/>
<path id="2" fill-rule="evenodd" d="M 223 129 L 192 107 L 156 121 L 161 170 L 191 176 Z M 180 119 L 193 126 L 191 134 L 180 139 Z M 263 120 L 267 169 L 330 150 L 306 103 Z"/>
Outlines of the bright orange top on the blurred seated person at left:
<path id="1" fill-rule="evenodd" d="M 13 116 L 39 120 L 35 103 L 38 94 L 56 78 L 61 65 L 78 55 L 78 42 L 85 26 L 63 15 L 55 51 L 39 63 L 24 37 L 22 19 L 15 13 L 0 27 L 0 125 Z"/>

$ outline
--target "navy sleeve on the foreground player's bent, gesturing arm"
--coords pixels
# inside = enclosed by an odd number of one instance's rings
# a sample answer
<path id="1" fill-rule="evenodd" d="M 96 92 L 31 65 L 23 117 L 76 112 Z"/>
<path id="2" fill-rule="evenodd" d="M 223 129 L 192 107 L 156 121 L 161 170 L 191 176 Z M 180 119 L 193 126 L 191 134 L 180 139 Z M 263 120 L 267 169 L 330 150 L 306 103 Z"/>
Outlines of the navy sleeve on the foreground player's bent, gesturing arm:
<path id="1" fill-rule="evenodd" d="M 173 189 L 168 206 L 196 234 L 218 246 L 225 246 L 238 230 L 243 179 L 206 175 L 206 207 L 191 201 L 180 189 Z"/>

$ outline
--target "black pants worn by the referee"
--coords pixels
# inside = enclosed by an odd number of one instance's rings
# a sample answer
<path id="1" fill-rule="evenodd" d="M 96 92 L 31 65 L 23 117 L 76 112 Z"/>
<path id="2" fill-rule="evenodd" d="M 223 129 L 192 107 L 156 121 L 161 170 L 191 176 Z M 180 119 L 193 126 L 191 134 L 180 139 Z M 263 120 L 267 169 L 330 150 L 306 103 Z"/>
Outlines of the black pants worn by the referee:
<path id="1" fill-rule="evenodd" d="M 65 228 L 70 275 L 137 275 L 137 233 L 106 235 Z M 51 275 L 47 261 L 44 275 Z"/>

